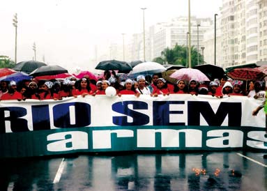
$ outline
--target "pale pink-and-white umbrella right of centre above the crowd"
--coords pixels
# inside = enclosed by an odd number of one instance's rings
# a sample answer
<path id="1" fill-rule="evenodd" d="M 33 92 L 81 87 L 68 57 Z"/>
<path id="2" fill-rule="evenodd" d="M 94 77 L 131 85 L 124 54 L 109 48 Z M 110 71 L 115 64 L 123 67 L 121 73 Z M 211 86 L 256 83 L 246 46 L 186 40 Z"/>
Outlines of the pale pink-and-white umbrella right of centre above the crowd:
<path id="1" fill-rule="evenodd" d="M 198 82 L 210 81 L 203 72 L 194 68 L 181 68 L 180 70 L 172 73 L 169 77 L 183 79 L 186 81 L 190 81 L 191 79 L 195 79 Z"/>

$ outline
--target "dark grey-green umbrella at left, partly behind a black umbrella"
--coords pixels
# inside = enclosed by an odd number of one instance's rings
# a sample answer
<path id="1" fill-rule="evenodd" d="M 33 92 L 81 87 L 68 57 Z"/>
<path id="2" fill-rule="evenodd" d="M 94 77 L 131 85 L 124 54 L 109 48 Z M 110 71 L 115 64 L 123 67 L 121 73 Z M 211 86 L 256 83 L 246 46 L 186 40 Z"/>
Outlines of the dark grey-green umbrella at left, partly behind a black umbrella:
<path id="1" fill-rule="evenodd" d="M 40 68 L 41 66 L 46 66 L 46 63 L 40 62 L 40 61 L 22 61 L 20 63 L 17 63 L 13 70 L 19 71 L 19 72 L 26 72 L 27 74 L 33 72 L 33 70 L 36 70 L 37 68 Z"/>

